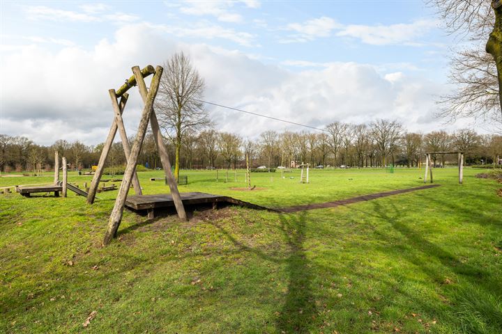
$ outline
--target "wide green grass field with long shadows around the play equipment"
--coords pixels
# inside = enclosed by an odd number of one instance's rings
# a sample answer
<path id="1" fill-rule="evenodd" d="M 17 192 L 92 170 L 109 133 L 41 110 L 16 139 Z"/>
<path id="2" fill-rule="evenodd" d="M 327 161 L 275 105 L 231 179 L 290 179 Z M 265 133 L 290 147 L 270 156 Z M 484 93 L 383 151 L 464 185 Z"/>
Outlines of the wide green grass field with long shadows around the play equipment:
<path id="1" fill-rule="evenodd" d="M 456 168 L 436 169 L 438 188 L 295 214 L 126 210 L 106 248 L 116 191 L 94 205 L 0 195 L 0 333 L 501 333 L 501 185 L 479 172 L 459 185 Z M 161 175 L 139 173 L 145 194 L 168 192 L 149 181 Z M 311 170 L 310 184 L 253 173 L 259 191 L 231 190 L 242 171 L 181 175 L 181 191 L 276 208 L 423 185 L 416 169 Z"/>

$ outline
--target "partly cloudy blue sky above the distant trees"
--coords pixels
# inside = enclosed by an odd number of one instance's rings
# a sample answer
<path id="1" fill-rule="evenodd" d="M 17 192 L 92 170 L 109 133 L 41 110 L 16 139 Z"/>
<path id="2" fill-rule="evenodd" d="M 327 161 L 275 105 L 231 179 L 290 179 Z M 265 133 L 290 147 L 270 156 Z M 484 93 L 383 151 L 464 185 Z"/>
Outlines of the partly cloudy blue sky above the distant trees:
<path id="1" fill-rule="evenodd" d="M 75 113 L 109 113 L 107 89 L 132 65 L 175 51 L 206 79 L 206 100 L 315 126 L 395 118 L 412 131 L 443 128 L 434 99 L 451 89 L 455 41 L 440 24 L 418 0 L 2 1 L 1 70 L 24 79 L 1 88 L 0 132 L 50 144 L 60 125 L 70 141 L 98 143 L 112 118 Z M 22 97 L 25 79 L 45 86 Z M 84 96 L 65 96 L 84 83 Z M 134 132 L 140 103 L 131 109 Z M 250 131 L 248 116 L 208 109 L 219 129 L 245 137 L 294 129 L 258 120 Z"/>

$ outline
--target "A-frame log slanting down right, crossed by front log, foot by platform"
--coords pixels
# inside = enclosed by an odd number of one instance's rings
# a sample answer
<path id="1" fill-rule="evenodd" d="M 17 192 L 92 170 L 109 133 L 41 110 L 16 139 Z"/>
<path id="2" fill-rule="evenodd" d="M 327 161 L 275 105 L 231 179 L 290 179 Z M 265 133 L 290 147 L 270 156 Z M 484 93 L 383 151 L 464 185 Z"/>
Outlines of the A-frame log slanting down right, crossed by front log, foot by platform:
<path id="1" fill-rule="evenodd" d="M 162 70 L 162 67 L 160 67 L 160 69 Z M 139 71 L 139 67 L 137 66 L 132 67 L 132 72 L 135 74 L 136 82 L 139 88 L 139 95 L 142 96 L 143 102 L 146 104 L 149 93 L 142 77 L 142 72 Z M 164 144 L 164 138 L 162 138 L 162 134 L 160 133 L 157 115 L 155 115 L 155 110 L 153 109 L 153 107 L 150 116 L 150 127 L 153 134 L 153 141 L 155 141 L 155 147 L 157 148 L 160 155 L 160 162 L 162 163 L 162 168 L 164 169 L 164 175 L 167 178 L 167 184 L 169 184 L 169 190 L 171 191 L 174 207 L 176 207 L 176 212 L 178 213 L 178 218 L 180 218 L 182 221 L 186 221 L 187 216 L 185 207 L 183 207 L 183 201 L 181 200 L 181 195 L 178 191 L 178 183 L 176 182 L 176 179 L 174 179 L 174 175 L 172 174 L 171 161 L 169 161 L 169 154 L 167 153 L 167 148 Z"/>

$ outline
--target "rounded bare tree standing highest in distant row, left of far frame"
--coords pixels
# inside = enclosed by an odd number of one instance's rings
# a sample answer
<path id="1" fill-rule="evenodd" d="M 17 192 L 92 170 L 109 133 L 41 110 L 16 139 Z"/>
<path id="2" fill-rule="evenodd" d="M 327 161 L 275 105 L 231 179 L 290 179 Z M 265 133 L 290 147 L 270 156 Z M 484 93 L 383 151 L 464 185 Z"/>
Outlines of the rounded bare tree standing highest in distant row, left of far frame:
<path id="1" fill-rule="evenodd" d="M 377 145 L 383 167 L 386 166 L 387 157 L 394 152 L 400 140 L 402 125 L 395 120 L 380 119 L 372 122 L 371 126 L 374 143 Z"/>

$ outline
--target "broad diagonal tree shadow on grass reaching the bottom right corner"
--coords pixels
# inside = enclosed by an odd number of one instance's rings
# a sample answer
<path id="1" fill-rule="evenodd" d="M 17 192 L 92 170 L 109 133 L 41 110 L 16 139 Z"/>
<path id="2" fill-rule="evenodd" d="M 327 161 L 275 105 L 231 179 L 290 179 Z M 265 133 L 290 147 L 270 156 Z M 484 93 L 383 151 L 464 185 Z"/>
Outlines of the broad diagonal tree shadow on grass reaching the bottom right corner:
<path id="1" fill-rule="evenodd" d="M 438 244 L 425 239 L 420 232 L 413 230 L 400 220 L 400 209 L 394 203 L 386 202 L 384 204 L 376 200 L 372 202 L 372 210 L 363 211 L 356 207 L 350 207 L 350 209 L 379 218 L 400 232 L 402 237 L 392 240 L 395 242 L 395 247 L 382 246 L 380 250 L 390 253 L 390 256 L 395 256 L 397 247 L 413 248 L 412 251 L 404 249 L 399 256 L 419 267 L 436 285 L 441 287 L 439 292 L 448 295 L 448 305 L 450 305 L 448 311 L 450 319 L 448 321 L 452 321 L 461 333 L 500 333 L 500 328 L 502 328 L 502 287 L 499 279 L 492 277 L 492 274 L 485 269 L 459 260 Z M 450 209 L 455 210 L 455 207 L 455 205 L 450 205 Z M 389 242 L 391 238 L 388 234 L 378 232 L 378 230 L 374 230 L 374 235 L 385 242 Z M 438 267 L 434 262 L 425 261 L 424 258 L 437 260 L 441 266 Z M 450 273 L 457 276 L 458 280 L 448 278 Z M 387 281 L 384 283 L 390 284 Z M 400 287 L 396 289 L 396 292 L 406 295 Z M 413 299 L 413 296 L 409 296 L 409 298 Z M 429 315 L 434 317 L 436 313 L 434 308 L 425 302 L 416 301 L 416 303 L 423 305 Z"/>

